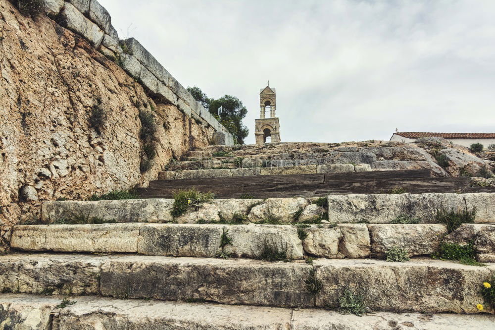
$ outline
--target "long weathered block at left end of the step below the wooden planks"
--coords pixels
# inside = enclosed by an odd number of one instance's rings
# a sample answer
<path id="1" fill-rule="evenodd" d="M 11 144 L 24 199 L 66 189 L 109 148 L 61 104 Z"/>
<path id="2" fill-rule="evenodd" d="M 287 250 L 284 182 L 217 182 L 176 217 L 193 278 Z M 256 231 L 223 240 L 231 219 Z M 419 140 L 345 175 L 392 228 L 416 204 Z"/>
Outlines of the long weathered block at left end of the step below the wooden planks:
<path id="1" fill-rule="evenodd" d="M 117 201 L 50 201 L 42 205 L 45 223 L 74 215 L 117 222 L 171 222 L 173 199 L 129 199 Z"/>

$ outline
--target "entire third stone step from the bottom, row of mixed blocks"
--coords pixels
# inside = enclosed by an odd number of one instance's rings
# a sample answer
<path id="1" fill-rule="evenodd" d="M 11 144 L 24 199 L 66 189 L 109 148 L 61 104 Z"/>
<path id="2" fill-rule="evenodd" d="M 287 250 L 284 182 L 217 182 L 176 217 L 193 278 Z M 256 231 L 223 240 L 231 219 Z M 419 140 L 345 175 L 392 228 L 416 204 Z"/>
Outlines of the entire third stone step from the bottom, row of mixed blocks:
<path id="1" fill-rule="evenodd" d="M 263 259 L 381 258 L 394 248 L 409 257 L 432 255 L 447 235 L 444 224 L 63 224 L 14 226 L 10 246 L 30 252 L 139 253 L 172 257 Z M 463 224 L 446 242 L 472 242 L 478 259 L 495 262 L 495 225 Z"/>

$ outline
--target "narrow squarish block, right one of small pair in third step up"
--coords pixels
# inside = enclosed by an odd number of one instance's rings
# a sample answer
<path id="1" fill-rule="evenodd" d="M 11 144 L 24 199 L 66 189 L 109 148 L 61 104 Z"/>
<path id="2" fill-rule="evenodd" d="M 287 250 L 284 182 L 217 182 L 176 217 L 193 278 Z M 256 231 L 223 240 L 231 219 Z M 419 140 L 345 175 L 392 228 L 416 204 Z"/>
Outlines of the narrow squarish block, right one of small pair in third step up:
<path id="1" fill-rule="evenodd" d="M 364 223 L 339 224 L 342 240 L 339 254 L 347 258 L 368 258 L 371 253 L 370 235 Z"/>

